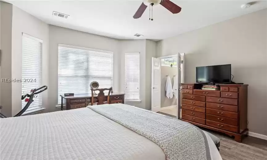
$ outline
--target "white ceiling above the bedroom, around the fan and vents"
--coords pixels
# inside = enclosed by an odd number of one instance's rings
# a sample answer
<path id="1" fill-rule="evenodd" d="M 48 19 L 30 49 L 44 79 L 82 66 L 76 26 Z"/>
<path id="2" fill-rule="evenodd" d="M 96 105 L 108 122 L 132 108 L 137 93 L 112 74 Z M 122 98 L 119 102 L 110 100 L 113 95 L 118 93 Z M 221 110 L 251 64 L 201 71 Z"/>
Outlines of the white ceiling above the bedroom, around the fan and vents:
<path id="1" fill-rule="evenodd" d="M 172 14 L 161 5 L 153 7 L 153 21 L 149 21 L 149 7 L 139 19 L 133 15 L 142 0 L 50 0 L 50 1 L 7 1 L 52 24 L 92 34 L 117 39 L 153 39 L 160 40 L 190 30 L 195 30 L 217 22 L 267 8 L 267 1 L 259 1 L 253 6 L 241 9 L 247 0 L 208 0 L 177 1 L 182 8 L 178 14 Z M 68 14 L 68 19 L 52 16 L 52 12 Z M 134 34 L 144 37 L 136 38 Z"/>

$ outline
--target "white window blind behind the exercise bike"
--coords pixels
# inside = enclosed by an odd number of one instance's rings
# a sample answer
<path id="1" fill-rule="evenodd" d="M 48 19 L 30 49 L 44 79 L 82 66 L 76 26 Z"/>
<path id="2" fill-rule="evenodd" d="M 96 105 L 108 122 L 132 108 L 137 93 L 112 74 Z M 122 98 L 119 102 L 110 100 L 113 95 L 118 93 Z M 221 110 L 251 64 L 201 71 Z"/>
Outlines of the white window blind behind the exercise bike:
<path id="1" fill-rule="evenodd" d="M 43 41 L 28 34 L 22 34 L 22 94 L 42 85 Z M 27 102 L 22 100 L 22 108 Z M 27 111 L 42 107 L 42 94 L 34 98 Z"/>

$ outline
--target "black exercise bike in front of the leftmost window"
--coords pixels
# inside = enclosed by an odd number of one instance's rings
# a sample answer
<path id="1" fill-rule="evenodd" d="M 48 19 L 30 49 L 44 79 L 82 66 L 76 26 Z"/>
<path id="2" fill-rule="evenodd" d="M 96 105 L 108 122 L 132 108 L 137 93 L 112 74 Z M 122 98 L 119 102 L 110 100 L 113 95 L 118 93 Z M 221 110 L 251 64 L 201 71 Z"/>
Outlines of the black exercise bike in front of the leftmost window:
<path id="1" fill-rule="evenodd" d="M 27 104 L 23 107 L 23 109 L 16 114 L 14 117 L 18 117 L 21 116 L 21 114 L 23 114 L 31 105 L 31 103 L 34 101 L 33 98 L 36 98 L 41 92 L 43 92 L 44 90 L 47 90 L 47 86 L 42 86 L 40 88 L 37 89 L 32 89 L 30 94 L 24 94 L 21 96 L 21 100 L 25 99 L 25 102 L 27 102 Z M 26 98 L 27 97 L 27 98 Z M 0 109 L 2 108 L 2 106 L 0 106 Z M 0 118 L 6 118 L 6 116 L 4 116 L 2 113 L 0 113 Z"/>

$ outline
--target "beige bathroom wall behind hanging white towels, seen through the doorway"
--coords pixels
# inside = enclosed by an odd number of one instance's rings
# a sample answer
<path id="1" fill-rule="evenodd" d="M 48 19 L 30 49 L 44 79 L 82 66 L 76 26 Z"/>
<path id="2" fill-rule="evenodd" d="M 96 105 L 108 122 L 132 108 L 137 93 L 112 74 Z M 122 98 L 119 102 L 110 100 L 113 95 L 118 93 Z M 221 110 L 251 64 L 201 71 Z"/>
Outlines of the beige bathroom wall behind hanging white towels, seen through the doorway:
<path id="1" fill-rule="evenodd" d="M 173 86 L 173 76 L 177 74 L 177 67 L 161 66 L 161 108 L 177 104 L 177 99 L 175 99 L 174 95 L 173 98 L 166 97 L 166 91 L 165 91 L 165 86 L 167 81 L 166 74 L 170 76 Z"/>

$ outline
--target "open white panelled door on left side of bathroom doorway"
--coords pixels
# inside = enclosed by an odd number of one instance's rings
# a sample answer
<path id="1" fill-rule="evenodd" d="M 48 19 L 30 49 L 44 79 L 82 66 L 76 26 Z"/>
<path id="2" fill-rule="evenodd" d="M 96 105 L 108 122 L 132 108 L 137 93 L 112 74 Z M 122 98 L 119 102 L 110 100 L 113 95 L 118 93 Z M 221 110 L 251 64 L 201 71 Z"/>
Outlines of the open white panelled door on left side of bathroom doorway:
<path id="1" fill-rule="evenodd" d="M 161 59 L 152 57 L 151 110 L 161 110 Z"/>

